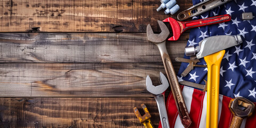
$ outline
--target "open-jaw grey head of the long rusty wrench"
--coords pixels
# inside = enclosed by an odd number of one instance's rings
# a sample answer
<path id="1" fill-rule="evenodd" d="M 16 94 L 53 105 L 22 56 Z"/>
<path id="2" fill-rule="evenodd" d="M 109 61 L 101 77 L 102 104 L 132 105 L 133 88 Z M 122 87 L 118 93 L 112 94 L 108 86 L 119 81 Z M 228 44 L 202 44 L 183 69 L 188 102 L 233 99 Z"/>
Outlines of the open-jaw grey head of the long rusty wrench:
<path id="1" fill-rule="evenodd" d="M 147 26 L 147 37 L 148 37 L 148 40 L 150 42 L 162 43 L 167 39 L 167 37 L 170 34 L 170 31 L 167 28 L 167 26 L 164 25 L 164 22 L 158 20 L 157 23 L 158 23 L 159 27 L 161 28 L 161 33 L 160 34 L 154 34 L 151 26 L 148 24 L 148 26 Z"/>

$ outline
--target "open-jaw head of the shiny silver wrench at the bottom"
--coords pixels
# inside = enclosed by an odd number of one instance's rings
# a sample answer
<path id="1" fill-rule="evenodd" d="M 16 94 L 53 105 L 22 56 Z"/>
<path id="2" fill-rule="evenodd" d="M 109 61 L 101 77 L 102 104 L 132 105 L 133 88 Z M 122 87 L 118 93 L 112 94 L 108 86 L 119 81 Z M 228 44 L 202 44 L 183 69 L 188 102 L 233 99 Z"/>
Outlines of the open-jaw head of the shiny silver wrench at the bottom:
<path id="1" fill-rule="evenodd" d="M 147 76 L 147 78 L 146 78 L 147 90 L 150 93 L 155 94 L 155 95 L 162 94 L 169 87 L 169 83 L 167 81 L 167 78 L 161 72 L 160 72 L 160 81 L 162 83 L 161 85 L 154 86 L 152 84 L 150 77 Z"/>

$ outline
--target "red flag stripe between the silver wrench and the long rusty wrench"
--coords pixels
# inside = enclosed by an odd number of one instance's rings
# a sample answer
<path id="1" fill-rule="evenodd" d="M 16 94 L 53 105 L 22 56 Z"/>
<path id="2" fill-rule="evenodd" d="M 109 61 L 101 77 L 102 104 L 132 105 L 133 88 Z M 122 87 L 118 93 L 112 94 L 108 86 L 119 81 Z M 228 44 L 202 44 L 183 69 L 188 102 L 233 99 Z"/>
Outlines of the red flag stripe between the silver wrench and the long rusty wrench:
<path id="1" fill-rule="evenodd" d="M 181 85 L 181 91 L 183 90 L 183 86 Z M 178 116 L 178 109 L 175 105 L 175 100 L 173 98 L 172 92 L 169 93 L 166 103 L 167 116 L 169 120 L 170 127 L 174 127 L 176 118 Z M 175 116 L 173 116 L 175 115 Z M 159 122 L 158 128 L 162 128 L 161 121 Z"/>

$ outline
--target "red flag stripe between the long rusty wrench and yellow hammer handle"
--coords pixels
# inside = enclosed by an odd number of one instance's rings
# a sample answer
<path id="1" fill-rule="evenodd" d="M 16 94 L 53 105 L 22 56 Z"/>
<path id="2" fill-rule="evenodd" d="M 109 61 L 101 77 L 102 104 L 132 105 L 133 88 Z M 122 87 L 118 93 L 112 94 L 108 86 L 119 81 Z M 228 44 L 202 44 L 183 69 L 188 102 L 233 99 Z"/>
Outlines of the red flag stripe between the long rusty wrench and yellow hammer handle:
<path id="1" fill-rule="evenodd" d="M 205 93 L 199 90 L 194 89 L 193 92 L 193 99 L 190 108 L 190 119 L 192 120 L 191 128 L 198 127 L 201 119 L 202 109 L 203 109 L 203 102 L 204 102 L 204 95 Z"/>

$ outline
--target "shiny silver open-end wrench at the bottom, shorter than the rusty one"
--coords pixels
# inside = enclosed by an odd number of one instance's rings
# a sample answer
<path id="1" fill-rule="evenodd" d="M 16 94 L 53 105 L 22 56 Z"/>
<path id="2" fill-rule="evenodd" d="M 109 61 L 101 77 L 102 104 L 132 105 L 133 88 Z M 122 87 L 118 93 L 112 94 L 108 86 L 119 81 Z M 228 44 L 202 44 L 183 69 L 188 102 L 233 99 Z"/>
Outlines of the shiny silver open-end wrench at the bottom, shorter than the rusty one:
<path id="1" fill-rule="evenodd" d="M 164 100 L 164 94 L 165 90 L 169 87 L 168 81 L 166 77 L 164 76 L 163 73 L 160 72 L 160 81 L 161 85 L 154 86 L 152 84 L 152 81 L 149 76 L 146 78 L 146 86 L 147 90 L 154 94 L 154 98 L 157 103 L 158 111 L 159 111 L 159 116 L 161 119 L 162 127 L 163 128 L 170 128 L 168 116 L 167 116 L 167 111 L 165 108 L 165 100 Z"/>

